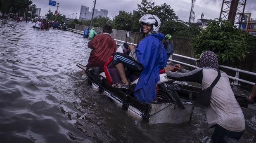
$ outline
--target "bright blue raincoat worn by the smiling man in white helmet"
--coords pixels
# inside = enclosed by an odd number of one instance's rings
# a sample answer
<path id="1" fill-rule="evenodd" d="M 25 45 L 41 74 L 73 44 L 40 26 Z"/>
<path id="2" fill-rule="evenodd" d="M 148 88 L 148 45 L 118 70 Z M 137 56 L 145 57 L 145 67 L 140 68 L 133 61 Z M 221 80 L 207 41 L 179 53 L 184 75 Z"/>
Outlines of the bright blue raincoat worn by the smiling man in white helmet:
<path id="1" fill-rule="evenodd" d="M 134 96 L 142 103 L 152 102 L 156 98 L 159 70 L 166 66 L 167 61 L 167 53 L 161 42 L 163 39 L 164 34 L 150 32 L 135 49 L 137 61 L 144 69 L 134 89 Z"/>

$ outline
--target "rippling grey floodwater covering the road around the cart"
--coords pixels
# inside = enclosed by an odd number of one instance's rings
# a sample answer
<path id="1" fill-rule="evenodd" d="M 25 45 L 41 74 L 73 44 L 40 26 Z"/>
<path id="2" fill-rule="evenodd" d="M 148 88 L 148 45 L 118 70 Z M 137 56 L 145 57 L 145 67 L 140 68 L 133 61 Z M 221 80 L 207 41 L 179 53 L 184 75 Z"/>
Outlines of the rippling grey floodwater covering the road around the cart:
<path id="1" fill-rule="evenodd" d="M 76 63 L 86 65 L 87 39 L 62 30 L 0 19 L 1 143 L 207 143 L 204 109 L 192 121 L 146 124 L 96 89 Z M 249 90 L 239 94 L 249 95 Z M 256 142 L 256 111 L 242 108 L 239 143 Z"/>

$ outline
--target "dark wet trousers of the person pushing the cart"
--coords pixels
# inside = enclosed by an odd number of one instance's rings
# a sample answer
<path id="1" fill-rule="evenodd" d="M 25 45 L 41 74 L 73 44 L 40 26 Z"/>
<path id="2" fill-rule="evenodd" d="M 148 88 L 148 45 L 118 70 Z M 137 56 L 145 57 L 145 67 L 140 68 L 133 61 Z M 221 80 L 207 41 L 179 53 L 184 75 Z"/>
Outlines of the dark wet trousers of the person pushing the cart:
<path id="1" fill-rule="evenodd" d="M 211 143 L 237 143 L 243 133 L 244 131 L 229 131 L 216 124 L 213 135 L 211 136 Z"/>

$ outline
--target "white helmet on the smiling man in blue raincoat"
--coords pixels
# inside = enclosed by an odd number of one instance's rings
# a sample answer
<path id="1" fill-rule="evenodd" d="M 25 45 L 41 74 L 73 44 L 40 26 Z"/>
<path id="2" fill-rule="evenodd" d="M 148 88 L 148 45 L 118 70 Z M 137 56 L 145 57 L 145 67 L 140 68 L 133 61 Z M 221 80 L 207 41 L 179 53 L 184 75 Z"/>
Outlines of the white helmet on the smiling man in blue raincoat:
<path id="1" fill-rule="evenodd" d="M 160 19 L 152 14 L 146 14 L 142 16 L 139 20 L 139 23 L 147 23 L 153 25 L 152 31 L 158 31 L 161 25 Z"/>

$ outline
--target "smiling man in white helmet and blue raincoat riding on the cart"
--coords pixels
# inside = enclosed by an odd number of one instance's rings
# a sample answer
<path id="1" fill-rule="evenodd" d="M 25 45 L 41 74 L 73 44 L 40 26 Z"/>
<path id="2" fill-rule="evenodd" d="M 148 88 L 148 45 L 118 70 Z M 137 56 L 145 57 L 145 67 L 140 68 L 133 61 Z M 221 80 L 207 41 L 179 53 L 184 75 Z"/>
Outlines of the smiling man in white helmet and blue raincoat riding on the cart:
<path id="1" fill-rule="evenodd" d="M 142 103 L 152 102 L 156 98 L 156 83 L 160 80 L 159 70 L 166 66 L 167 53 L 161 40 L 164 34 L 157 32 L 160 19 L 152 14 L 140 18 L 142 30 L 146 36 L 137 45 L 129 45 L 132 57 L 116 53 L 113 63 L 121 77 L 121 82 L 113 84 L 115 88 L 129 89 L 124 66 L 135 72 L 140 72 L 140 77 L 134 89 L 134 96 Z"/>

